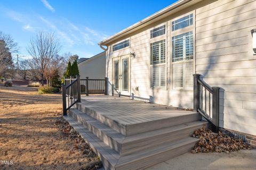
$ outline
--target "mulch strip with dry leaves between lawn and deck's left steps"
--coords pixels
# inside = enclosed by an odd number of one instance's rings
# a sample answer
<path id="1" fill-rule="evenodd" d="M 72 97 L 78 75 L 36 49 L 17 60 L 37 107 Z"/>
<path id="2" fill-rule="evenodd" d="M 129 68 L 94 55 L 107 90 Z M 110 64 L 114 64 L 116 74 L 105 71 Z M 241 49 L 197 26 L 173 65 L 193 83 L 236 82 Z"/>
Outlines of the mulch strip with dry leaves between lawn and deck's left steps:
<path id="1" fill-rule="evenodd" d="M 55 125 L 57 125 L 60 128 L 63 136 L 67 136 L 74 141 L 74 147 L 77 150 L 81 151 L 83 154 L 86 154 L 86 156 L 89 158 L 97 157 L 96 153 L 94 153 L 89 143 L 86 142 L 72 126 L 70 126 L 67 120 L 60 118 L 55 121 Z M 95 161 L 93 164 L 90 164 L 87 167 L 85 167 L 85 169 L 93 170 L 99 169 L 100 167 L 102 167 L 102 163 L 99 159 L 98 161 Z"/>

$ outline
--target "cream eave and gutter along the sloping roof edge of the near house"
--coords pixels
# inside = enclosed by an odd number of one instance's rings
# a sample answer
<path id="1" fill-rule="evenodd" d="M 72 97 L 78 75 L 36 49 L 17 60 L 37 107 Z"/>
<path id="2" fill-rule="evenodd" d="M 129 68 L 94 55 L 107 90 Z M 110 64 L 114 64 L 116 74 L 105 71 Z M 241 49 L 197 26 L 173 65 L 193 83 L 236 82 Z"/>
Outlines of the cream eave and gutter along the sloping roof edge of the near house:
<path id="1" fill-rule="evenodd" d="M 143 20 L 141 20 L 141 21 L 139 21 L 137 23 L 134 23 L 134 25 L 125 28 L 124 30 L 118 32 L 117 34 L 104 39 L 103 41 L 99 42 L 98 45 L 105 45 L 108 42 L 111 42 L 110 41 L 111 39 L 117 38 L 119 36 L 121 37 L 124 33 L 127 33 L 128 31 L 130 31 L 130 30 L 132 30 L 134 28 L 137 28 L 137 27 L 145 24 L 146 22 L 151 21 L 151 20 L 153 20 L 153 19 L 155 19 L 155 18 L 157 18 L 157 17 L 159 17 L 159 16 L 161 16 L 161 15 L 163 15 L 163 14 L 169 12 L 169 11 L 174 10 L 174 9 L 176 9 L 179 6 L 187 4 L 188 2 L 191 2 L 191 1 L 194 1 L 194 0 L 179 0 L 179 1 L 175 2 L 175 3 L 173 3 L 172 5 L 169 5 L 169 6 L 165 7 L 164 9 L 162 9 L 162 10 L 160 10 L 160 11 L 158 11 L 158 12 L 152 14 L 152 15 L 150 15 L 149 17 L 147 17 L 147 18 L 145 18 L 145 19 L 143 19 Z"/>

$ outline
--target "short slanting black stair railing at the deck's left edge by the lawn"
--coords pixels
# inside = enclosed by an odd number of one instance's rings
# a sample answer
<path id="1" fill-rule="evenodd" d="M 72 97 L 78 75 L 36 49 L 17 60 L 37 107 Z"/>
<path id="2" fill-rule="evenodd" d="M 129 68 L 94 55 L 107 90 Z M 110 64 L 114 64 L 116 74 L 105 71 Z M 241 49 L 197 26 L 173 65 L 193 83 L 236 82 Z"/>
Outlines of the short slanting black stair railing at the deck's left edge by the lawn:
<path id="1" fill-rule="evenodd" d="M 76 77 L 75 79 L 70 78 L 68 85 L 62 85 L 63 116 L 67 115 L 67 111 L 73 107 L 75 103 L 81 102 L 80 76 Z"/>

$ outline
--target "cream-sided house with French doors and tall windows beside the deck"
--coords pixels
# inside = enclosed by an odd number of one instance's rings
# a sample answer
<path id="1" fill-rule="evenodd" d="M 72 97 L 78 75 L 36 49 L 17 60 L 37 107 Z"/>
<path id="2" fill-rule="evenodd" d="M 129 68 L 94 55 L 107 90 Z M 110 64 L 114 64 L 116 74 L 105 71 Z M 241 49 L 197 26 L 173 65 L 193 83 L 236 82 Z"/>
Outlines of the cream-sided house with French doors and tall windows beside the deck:
<path id="1" fill-rule="evenodd" d="M 115 94 L 193 108 L 193 74 L 201 74 L 221 87 L 220 127 L 256 135 L 253 29 L 255 0 L 181 0 L 99 45 Z"/>

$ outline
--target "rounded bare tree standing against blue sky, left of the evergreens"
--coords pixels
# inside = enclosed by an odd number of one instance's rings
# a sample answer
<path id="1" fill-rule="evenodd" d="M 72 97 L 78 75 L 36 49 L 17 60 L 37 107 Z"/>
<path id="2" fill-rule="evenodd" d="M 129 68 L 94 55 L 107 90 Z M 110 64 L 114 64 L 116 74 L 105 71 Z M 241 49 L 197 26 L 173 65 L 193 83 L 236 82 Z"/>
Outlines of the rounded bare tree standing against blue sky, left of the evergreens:
<path id="1" fill-rule="evenodd" d="M 55 37 L 54 33 L 40 31 L 35 38 L 30 39 L 27 51 L 31 55 L 29 67 L 38 71 L 43 84 L 46 68 L 52 64 L 51 61 L 60 51 L 59 39 Z"/>

